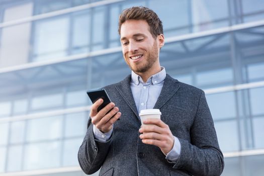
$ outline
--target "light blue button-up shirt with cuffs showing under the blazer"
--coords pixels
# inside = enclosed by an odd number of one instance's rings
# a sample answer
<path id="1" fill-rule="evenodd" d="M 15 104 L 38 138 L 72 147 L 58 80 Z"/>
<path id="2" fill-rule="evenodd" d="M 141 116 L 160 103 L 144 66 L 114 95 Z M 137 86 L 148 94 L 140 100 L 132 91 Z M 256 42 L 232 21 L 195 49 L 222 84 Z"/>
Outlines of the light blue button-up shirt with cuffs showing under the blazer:
<path id="1" fill-rule="evenodd" d="M 138 113 L 141 110 L 153 109 L 166 77 L 166 71 L 164 67 L 161 67 L 161 71 L 152 75 L 146 82 L 142 78 L 132 71 L 130 87 L 132 95 L 137 107 Z M 106 142 L 113 132 L 113 128 L 108 133 L 102 133 L 95 126 L 93 127 L 94 136 L 101 142 Z M 181 143 L 177 137 L 174 136 L 173 148 L 166 155 L 166 159 L 172 162 L 176 162 L 181 153 Z"/>

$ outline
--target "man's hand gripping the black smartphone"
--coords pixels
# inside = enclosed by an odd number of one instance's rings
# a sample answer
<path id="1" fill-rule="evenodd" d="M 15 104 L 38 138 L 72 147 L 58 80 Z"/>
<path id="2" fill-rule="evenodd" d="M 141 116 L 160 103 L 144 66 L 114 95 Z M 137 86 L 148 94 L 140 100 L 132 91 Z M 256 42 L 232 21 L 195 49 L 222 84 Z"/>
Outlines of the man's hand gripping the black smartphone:
<path id="1" fill-rule="evenodd" d="M 103 99 L 99 99 L 92 105 L 90 117 L 92 119 L 92 123 L 97 129 L 103 133 L 107 133 L 113 128 L 113 124 L 117 121 L 117 119 L 120 118 L 121 112 L 118 112 L 119 109 L 118 107 L 115 107 L 113 102 L 109 103 L 105 108 L 97 112 L 98 107 L 102 103 Z"/>

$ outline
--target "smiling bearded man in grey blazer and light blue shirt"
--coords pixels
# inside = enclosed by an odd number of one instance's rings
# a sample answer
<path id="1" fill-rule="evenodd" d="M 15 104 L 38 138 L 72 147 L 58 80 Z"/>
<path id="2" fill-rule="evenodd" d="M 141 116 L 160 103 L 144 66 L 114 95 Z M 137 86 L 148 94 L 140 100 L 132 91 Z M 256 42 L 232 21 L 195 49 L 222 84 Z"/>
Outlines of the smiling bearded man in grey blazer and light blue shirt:
<path id="1" fill-rule="evenodd" d="M 223 154 L 204 92 L 171 78 L 159 64 L 164 36 L 158 16 L 145 7 L 126 9 L 119 34 L 132 74 L 105 87 L 113 103 L 99 112 L 102 99 L 91 107 L 78 152 L 82 170 L 92 174 L 102 166 L 100 175 L 220 175 Z M 161 119 L 141 127 L 143 109 L 159 109 Z"/>

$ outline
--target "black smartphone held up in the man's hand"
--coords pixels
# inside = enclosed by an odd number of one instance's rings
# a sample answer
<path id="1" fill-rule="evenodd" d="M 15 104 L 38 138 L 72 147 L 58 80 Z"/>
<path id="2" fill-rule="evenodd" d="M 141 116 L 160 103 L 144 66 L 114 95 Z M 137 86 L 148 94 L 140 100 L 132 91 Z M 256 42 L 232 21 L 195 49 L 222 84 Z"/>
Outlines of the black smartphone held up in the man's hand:
<path id="1" fill-rule="evenodd" d="M 108 94 L 107 94 L 105 89 L 87 91 L 87 95 L 89 96 L 89 98 L 91 99 L 93 104 L 98 99 L 103 99 L 104 100 L 103 104 L 98 107 L 98 109 L 97 109 L 98 112 L 100 110 L 102 110 L 103 108 L 105 108 L 105 106 L 107 106 L 109 103 L 111 103 L 111 100 L 110 100 L 110 98 L 109 98 L 109 96 L 108 96 Z"/>

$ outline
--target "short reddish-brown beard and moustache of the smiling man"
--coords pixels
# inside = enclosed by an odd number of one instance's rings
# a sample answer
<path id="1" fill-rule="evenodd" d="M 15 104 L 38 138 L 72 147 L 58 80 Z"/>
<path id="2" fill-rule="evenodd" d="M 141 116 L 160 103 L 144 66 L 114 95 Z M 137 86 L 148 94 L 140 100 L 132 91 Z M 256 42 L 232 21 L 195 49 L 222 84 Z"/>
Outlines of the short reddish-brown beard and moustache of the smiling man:
<path id="1" fill-rule="evenodd" d="M 137 52 L 133 54 L 136 54 L 136 53 Z M 130 64 L 130 61 L 129 61 L 130 58 L 128 58 L 128 60 L 125 59 L 130 69 L 134 71 L 135 73 L 144 73 L 148 71 L 154 65 L 154 63 L 158 60 L 158 48 L 157 48 L 156 41 L 154 41 L 152 48 L 149 51 L 147 51 L 143 56 L 145 57 L 144 62 L 138 63 L 138 64 Z"/>

